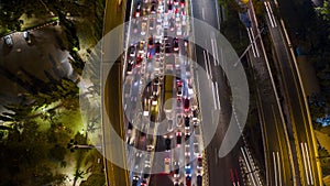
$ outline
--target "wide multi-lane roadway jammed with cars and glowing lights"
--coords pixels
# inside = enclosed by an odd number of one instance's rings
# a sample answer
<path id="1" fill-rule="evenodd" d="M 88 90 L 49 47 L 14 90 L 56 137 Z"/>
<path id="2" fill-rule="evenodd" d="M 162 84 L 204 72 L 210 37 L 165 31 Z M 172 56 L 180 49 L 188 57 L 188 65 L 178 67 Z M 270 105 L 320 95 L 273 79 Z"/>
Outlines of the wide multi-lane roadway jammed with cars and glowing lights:
<path id="1" fill-rule="evenodd" d="M 186 0 L 132 2 L 124 56 L 125 141 L 150 152 L 128 150 L 132 186 L 150 185 L 153 173 L 167 176 L 174 186 L 202 185 L 204 143 L 188 62 L 187 4 Z M 154 156 L 155 152 L 164 155 Z"/>

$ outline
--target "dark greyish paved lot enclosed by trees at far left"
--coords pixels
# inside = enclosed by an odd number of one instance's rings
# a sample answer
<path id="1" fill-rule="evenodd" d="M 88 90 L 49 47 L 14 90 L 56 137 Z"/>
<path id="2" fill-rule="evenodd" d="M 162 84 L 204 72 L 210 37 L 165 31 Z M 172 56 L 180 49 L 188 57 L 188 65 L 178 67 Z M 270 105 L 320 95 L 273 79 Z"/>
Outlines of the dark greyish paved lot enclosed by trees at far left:
<path id="1" fill-rule="evenodd" d="M 33 74 L 42 80 L 48 80 L 44 72 L 48 72 L 54 77 L 64 77 L 70 75 L 68 62 L 68 52 L 63 51 L 63 39 L 59 26 L 45 26 L 40 30 L 31 31 L 31 44 L 23 39 L 22 32 L 15 32 L 12 35 L 13 46 L 8 45 L 1 40 L 0 42 L 0 66 L 2 70 L 12 73 L 10 78 L 26 78 L 20 69 Z M 26 92 L 24 85 L 16 80 L 13 83 L 0 74 L 0 95 L 12 97 L 20 92 Z M 23 87 L 22 87 L 23 86 Z M 26 85 L 25 85 L 26 86 Z M 14 96 L 14 97 L 15 97 Z M 15 98 L 14 98 L 15 99 Z"/>

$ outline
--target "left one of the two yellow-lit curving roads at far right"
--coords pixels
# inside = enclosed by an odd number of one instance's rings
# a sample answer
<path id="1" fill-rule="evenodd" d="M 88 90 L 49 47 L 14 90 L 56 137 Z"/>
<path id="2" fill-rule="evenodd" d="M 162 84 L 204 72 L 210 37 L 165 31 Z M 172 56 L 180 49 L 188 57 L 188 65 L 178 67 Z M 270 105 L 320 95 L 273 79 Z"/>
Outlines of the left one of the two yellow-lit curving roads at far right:
<path id="1" fill-rule="evenodd" d="M 256 106 L 262 124 L 266 161 L 266 184 L 274 186 L 294 185 L 290 142 L 286 134 L 285 120 L 282 117 L 282 106 L 277 101 L 277 90 L 273 75 L 270 74 L 268 56 L 264 51 L 263 41 L 252 40 L 261 31 L 257 30 L 257 20 L 253 17 L 254 11 L 251 8 L 249 10 L 252 28 L 246 28 L 246 31 L 249 34 L 253 34 L 250 40 L 252 44 L 255 42 L 256 46 L 255 51 L 249 53 L 249 65 L 253 69 L 253 79 L 256 85 Z"/>

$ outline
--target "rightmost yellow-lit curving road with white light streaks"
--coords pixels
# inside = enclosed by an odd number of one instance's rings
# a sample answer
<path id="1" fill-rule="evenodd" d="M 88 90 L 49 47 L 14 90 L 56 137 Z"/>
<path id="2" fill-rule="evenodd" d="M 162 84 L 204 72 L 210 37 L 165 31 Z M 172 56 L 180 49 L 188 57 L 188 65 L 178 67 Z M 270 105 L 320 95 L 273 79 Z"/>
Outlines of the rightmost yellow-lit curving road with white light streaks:
<path id="1" fill-rule="evenodd" d="M 271 10 L 271 15 L 274 14 L 273 3 L 265 2 L 265 7 Z M 276 10 L 276 9 L 274 9 Z M 273 19 L 272 19 L 273 18 Z M 283 20 L 278 17 L 267 17 L 267 25 L 270 28 L 270 34 L 272 43 L 275 50 L 276 59 L 275 64 L 277 70 L 280 73 L 280 90 L 286 102 L 286 117 L 288 119 L 288 125 L 292 128 L 295 136 L 295 146 L 297 152 L 297 158 L 299 162 L 299 176 L 301 185 L 320 185 L 315 141 L 312 141 L 312 131 L 310 130 L 311 121 L 308 108 L 306 108 L 306 97 L 304 97 L 304 90 L 301 83 L 299 81 L 298 72 L 296 70 L 295 62 L 290 55 L 289 50 L 293 47 L 286 39 L 286 30 L 284 28 Z M 271 21 L 273 20 L 273 21 Z M 277 26 L 274 26 L 277 23 Z M 308 107 L 308 106 L 307 106 Z"/>

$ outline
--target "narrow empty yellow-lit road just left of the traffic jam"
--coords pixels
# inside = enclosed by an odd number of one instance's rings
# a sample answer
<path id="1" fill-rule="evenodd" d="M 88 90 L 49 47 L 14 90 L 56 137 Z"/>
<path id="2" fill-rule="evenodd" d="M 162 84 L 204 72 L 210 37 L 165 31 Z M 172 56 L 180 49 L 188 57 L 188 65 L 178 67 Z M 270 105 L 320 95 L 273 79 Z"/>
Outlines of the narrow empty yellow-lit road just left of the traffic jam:
<path id="1" fill-rule="evenodd" d="M 118 4 L 119 1 L 112 1 L 107 0 L 106 1 L 106 10 L 105 10 L 105 21 L 103 21 L 103 35 L 106 35 L 108 32 L 110 32 L 112 29 L 118 26 L 119 24 L 123 23 L 123 13 L 124 13 L 124 6 L 125 3 L 122 3 L 121 6 Z M 124 1 L 125 2 L 125 1 Z M 123 32 L 122 32 L 123 33 Z M 112 41 L 112 43 L 122 43 L 121 42 L 122 36 L 118 37 L 118 41 Z M 102 48 L 108 48 L 108 43 L 102 45 Z M 119 45 L 119 47 L 121 47 Z M 102 62 L 107 63 L 107 62 Z M 122 66 L 120 62 L 114 63 L 112 70 L 110 72 L 109 76 L 107 76 L 106 86 L 105 86 L 105 96 L 102 98 L 103 105 L 105 105 L 105 112 L 107 112 L 107 116 L 109 116 L 110 122 L 105 122 L 106 119 L 102 119 L 102 139 L 103 139 L 103 163 L 105 163 L 105 172 L 106 172 L 106 184 L 111 186 L 129 186 L 130 178 L 129 173 L 122 168 L 113 164 L 111 161 L 109 161 L 107 157 L 125 157 L 125 147 L 119 144 L 116 144 L 116 147 L 112 142 L 114 139 L 113 136 L 110 136 L 109 128 L 111 123 L 119 123 L 119 124 L 112 124 L 117 133 L 121 136 L 121 139 L 124 139 L 124 127 L 123 127 L 123 113 L 122 113 L 122 74 L 121 70 Z M 110 109 L 114 108 L 114 109 Z M 105 114 L 103 114 L 105 116 Z M 120 117 L 118 117 L 120 116 Z M 119 151 L 113 151 L 113 149 L 118 149 Z M 125 165 L 125 158 L 122 158 L 123 165 Z"/>

